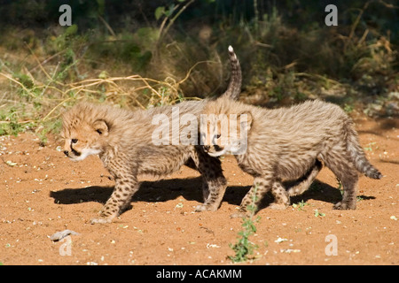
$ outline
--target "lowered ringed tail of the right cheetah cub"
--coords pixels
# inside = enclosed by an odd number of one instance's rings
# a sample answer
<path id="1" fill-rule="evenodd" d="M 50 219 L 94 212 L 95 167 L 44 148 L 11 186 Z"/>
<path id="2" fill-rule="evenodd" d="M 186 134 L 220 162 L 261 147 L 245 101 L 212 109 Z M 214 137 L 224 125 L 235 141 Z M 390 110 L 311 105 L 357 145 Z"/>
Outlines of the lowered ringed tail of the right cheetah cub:
<path id="1" fill-rule="evenodd" d="M 359 172 L 364 173 L 369 178 L 381 179 L 382 174 L 375 168 L 364 155 L 364 150 L 359 144 L 356 130 L 351 121 L 346 125 L 347 130 L 347 150 Z"/>

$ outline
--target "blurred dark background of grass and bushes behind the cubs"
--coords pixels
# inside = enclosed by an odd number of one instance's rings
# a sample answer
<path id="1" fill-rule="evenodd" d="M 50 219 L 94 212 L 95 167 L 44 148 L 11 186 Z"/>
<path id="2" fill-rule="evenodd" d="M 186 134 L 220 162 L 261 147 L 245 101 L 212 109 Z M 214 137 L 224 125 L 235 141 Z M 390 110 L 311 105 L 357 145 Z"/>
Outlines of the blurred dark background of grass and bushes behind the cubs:
<path id="1" fill-rule="evenodd" d="M 61 4 L 72 8 L 61 27 Z M 338 26 L 325 25 L 327 4 Z M 399 3 L 389 0 L 0 0 L 0 134 L 50 131 L 81 99 L 148 108 L 217 96 L 227 47 L 241 99 L 322 98 L 397 117 Z"/>

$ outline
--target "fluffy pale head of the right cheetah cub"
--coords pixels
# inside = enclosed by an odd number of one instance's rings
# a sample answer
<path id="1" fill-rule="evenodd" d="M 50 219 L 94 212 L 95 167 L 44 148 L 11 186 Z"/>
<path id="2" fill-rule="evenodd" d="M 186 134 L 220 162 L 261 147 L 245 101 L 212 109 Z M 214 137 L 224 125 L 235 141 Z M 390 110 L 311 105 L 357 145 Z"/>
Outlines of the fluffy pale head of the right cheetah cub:
<path id="1" fill-rule="evenodd" d="M 249 112 L 220 114 L 220 111 L 207 111 L 201 115 L 201 144 L 211 157 L 244 154 L 251 123 Z"/>

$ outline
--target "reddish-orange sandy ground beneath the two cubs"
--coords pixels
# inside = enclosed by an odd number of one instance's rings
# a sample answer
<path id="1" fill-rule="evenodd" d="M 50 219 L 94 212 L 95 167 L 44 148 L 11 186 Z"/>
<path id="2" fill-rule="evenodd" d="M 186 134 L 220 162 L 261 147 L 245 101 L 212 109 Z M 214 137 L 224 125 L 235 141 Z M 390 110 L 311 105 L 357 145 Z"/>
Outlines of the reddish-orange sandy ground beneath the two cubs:
<path id="1" fill-rule="evenodd" d="M 360 178 L 357 210 L 332 210 L 340 191 L 328 169 L 292 199 L 304 205 L 270 210 L 268 197 L 251 238 L 257 259 L 246 264 L 399 264 L 399 123 L 358 118 L 356 125 L 367 157 L 385 177 Z M 229 187 L 215 212 L 193 212 L 202 197 L 200 174 L 183 167 L 167 180 L 145 181 L 133 208 L 113 223 L 90 225 L 113 180 L 98 157 L 73 163 L 60 145 L 51 136 L 45 147 L 35 134 L 0 137 L 0 263 L 231 264 L 229 244 L 242 220 L 230 215 L 253 181 L 233 157 L 223 158 Z M 65 229 L 79 234 L 50 240 Z M 337 256 L 326 255 L 332 242 Z"/>

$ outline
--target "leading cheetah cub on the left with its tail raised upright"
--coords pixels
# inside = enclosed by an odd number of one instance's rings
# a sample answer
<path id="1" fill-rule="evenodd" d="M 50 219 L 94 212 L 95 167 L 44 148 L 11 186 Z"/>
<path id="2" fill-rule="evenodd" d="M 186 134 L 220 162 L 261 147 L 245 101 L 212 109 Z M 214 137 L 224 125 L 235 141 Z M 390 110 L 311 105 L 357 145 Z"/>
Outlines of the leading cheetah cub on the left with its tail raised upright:
<path id="1" fill-rule="evenodd" d="M 239 60 L 231 47 L 229 56 L 231 81 L 223 97 L 233 100 L 237 99 L 240 93 L 241 70 Z M 154 133 L 159 132 L 162 138 L 171 136 L 173 139 L 178 130 L 179 138 L 179 134 L 184 133 L 188 124 L 180 123 L 178 128 L 174 129 L 175 110 L 179 112 L 177 119 L 184 120 L 187 115 L 197 119 L 207 101 L 183 102 L 174 106 L 155 107 L 148 111 L 127 111 L 107 105 L 80 103 L 64 114 L 62 135 L 65 139 L 66 156 L 79 161 L 90 155 L 98 155 L 115 180 L 113 194 L 100 211 L 99 218 L 92 219 L 91 223 L 111 222 L 122 210 L 129 207 L 132 195 L 139 188 L 137 179 L 140 175 L 160 178 L 176 172 L 183 164 L 191 161 L 190 159 L 204 180 L 202 189 L 205 202 L 199 205 L 197 210 L 218 209 L 227 182 L 220 160 L 207 155 L 199 145 L 198 127 L 195 127 L 195 133 L 191 136 L 197 138 L 197 141 L 177 141 L 177 144 L 153 142 Z M 172 120 L 170 134 L 163 135 L 163 130 L 169 131 L 168 123 L 161 126 L 153 124 L 156 115 Z"/>

